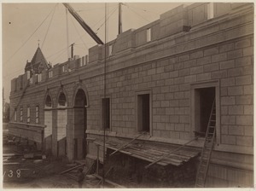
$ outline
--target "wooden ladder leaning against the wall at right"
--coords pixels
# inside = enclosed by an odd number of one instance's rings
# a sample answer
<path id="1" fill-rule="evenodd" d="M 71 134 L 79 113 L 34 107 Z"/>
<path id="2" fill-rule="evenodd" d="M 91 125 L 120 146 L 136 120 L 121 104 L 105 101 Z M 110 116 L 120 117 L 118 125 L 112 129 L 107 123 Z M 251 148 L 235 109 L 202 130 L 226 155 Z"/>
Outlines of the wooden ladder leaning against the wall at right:
<path id="1" fill-rule="evenodd" d="M 205 187 L 205 183 L 207 181 L 207 172 L 209 168 L 209 163 L 212 154 L 213 142 L 215 138 L 216 131 L 216 106 L 215 99 L 212 103 L 212 110 L 210 114 L 210 118 L 207 125 L 207 133 L 206 139 L 204 142 L 204 147 L 201 152 L 201 160 L 200 165 L 198 167 L 196 180 L 195 180 L 195 188 L 203 188 Z"/>

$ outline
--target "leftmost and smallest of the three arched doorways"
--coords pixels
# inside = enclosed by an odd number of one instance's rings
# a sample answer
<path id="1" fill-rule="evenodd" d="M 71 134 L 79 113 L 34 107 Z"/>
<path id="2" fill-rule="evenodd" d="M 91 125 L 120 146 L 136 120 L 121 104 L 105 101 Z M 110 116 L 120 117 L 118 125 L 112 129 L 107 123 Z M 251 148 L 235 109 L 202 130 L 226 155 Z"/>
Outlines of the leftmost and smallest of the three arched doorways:
<path id="1" fill-rule="evenodd" d="M 38 108 L 37 108 L 38 109 Z M 36 111 L 37 112 L 37 111 Z M 51 153 L 52 142 L 52 101 L 49 95 L 44 101 L 44 150 Z"/>

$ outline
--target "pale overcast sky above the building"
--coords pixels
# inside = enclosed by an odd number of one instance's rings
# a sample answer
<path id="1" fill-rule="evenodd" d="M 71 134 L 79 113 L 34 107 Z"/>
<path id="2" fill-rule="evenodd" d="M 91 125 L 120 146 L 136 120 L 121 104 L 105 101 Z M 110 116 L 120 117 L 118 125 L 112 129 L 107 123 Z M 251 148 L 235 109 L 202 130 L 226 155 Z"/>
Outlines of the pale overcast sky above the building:
<path id="1" fill-rule="evenodd" d="M 104 3 L 70 3 L 104 42 Z M 125 3 L 123 32 L 158 20 L 160 14 L 182 3 Z M 62 3 L 2 3 L 3 87 L 9 101 L 10 80 L 24 73 L 38 43 L 53 65 L 67 61 L 67 44 L 75 43 L 74 55 L 87 55 L 96 45 Z M 118 3 L 108 3 L 108 41 L 118 33 Z M 68 35 L 67 35 L 68 34 Z M 68 42 L 68 43 L 67 43 Z"/>

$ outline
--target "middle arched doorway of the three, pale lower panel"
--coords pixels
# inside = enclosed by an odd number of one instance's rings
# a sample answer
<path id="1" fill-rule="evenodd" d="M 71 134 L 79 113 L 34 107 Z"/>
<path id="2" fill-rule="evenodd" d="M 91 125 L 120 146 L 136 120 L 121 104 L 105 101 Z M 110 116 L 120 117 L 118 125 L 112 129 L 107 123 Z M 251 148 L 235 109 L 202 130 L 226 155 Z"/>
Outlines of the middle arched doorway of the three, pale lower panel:
<path id="1" fill-rule="evenodd" d="M 58 98 L 57 110 L 57 156 L 67 155 L 67 98 L 63 92 Z"/>

